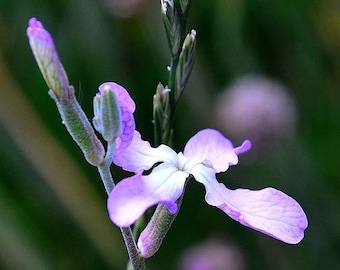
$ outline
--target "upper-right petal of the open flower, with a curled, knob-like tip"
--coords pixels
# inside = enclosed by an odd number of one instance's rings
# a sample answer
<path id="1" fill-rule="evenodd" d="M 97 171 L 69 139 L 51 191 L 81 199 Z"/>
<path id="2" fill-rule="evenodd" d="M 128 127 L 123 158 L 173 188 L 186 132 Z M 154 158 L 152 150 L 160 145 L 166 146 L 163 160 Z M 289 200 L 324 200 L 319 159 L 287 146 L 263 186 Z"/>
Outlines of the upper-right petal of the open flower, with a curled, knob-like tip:
<path id="1" fill-rule="evenodd" d="M 226 171 L 230 165 L 238 163 L 237 155 L 251 148 L 250 141 L 234 148 L 233 144 L 219 131 L 203 129 L 197 132 L 187 142 L 184 156 L 197 161 L 205 161 L 206 165 L 214 168 L 216 172 Z"/>

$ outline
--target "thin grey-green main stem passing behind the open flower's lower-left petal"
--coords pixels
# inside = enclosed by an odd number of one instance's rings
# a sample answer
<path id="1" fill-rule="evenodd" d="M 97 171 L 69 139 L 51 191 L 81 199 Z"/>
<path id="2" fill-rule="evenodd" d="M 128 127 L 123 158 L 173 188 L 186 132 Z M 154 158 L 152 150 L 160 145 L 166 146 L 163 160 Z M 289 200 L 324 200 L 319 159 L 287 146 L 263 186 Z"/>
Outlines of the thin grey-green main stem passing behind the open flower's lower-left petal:
<path id="1" fill-rule="evenodd" d="M 100 177 L 105 186 L 106 193 L 108 195 L 111 193 L 111 191 L 113 190 L 115 186 L 113 177 L 110 171 L 110 165 L 112 163 L 114 151 L 115 151 L 115 143 L 109 142 L 104 162 L 98 166 L 98 172 L 100 174 Z M 124 239 L 124 243 L 125 243 L 128 255 L 129 255 L 132 269 L 146 270 L 145 260 L 144 258 L 139 256 L 136 241 L 135 241 L 131 228 L 128 227 L 128 228 L 119 228 L 119 229 Z"/>

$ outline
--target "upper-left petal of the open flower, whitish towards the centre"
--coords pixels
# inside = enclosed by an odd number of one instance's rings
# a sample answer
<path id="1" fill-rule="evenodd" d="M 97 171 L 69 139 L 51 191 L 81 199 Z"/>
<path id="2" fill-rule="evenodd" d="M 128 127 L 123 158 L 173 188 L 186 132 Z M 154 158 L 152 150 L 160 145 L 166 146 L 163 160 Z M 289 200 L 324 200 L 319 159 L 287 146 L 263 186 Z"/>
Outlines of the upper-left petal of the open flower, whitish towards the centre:
<path id="1" fill-rule="evenodd" d="M 124 151 L 117 152 L 113 162 L 126 171 L 139 172 L 150 169 L 157 162 L 169 161 L 176 164 L 177 160 L 177 154 L 170 147 L 160 145 L 153 148 L 149 142 L 142 140 L 138 131 L 134 131 L 129 146 Z"/>

